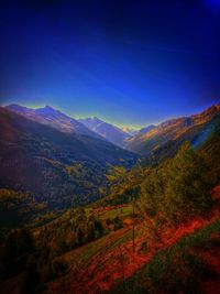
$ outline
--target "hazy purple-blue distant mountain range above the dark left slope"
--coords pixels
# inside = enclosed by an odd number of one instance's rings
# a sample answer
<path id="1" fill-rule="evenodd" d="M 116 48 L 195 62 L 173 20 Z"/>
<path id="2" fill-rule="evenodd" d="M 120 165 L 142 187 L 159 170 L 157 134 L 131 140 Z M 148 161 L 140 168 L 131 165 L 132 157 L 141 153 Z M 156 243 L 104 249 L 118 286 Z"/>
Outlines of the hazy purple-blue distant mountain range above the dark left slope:
<path id="1" fill-rule="evenodd" d="M 6 108 L 33 121 L 56 128 L 62 132 L 85 134 L 108 140 L 121 148 L 125 145 L 127 139 L 139 132 L 129 128 L 122 130 L 96 117 L 76 120 L 51 106 L 32 109 L 20 105 L 9 105 Z"/>

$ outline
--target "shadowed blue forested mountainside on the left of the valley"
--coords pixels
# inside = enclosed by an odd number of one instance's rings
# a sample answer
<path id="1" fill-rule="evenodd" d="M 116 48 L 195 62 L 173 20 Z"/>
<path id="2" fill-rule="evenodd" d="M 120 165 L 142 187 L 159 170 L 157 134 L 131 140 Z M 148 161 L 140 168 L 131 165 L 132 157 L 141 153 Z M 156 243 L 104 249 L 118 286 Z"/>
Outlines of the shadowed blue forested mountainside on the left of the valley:
<path id="1" fill-rule="evenodd" d="M 6 108 L 0 126 L 0 188 L 29 192 L 52 210 L 100 197 L 108 164 L 136 161 L 106 140 L 61 132 Z"/>

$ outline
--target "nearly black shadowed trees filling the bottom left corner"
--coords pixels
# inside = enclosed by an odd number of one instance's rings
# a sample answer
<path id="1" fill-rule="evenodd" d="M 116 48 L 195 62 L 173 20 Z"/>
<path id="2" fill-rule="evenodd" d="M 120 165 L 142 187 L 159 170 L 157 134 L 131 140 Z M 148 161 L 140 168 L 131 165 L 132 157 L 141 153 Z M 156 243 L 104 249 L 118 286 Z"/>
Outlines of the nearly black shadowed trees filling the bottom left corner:
<path id="1" fill-rule="evenodd" d="M 30 229 L 11 230 L 1 239 L 0 286 L 7 293 L 11 292 L 9 281 L 16 281 L 13 291 L 18 293 L 41 293 L 46 282 L 63 275 L 66 269 L 65 261 L 56 260 L 53 248 Z"/>

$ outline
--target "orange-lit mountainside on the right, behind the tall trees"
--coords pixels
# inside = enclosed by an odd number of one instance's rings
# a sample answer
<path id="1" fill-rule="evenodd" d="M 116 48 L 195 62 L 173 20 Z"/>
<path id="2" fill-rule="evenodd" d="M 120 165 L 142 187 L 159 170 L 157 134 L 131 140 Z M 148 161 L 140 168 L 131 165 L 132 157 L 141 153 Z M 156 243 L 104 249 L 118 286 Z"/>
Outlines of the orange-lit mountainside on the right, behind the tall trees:
<path id="1" fill-rule="evenodd" d="M 201 113 L 167 120 L 152 130 L 139 133 L 128 140 L 127 149 L 139 153 L 151 162 L 174 155 L 184 141 L 195 148 L 201 145 L 218 124 L 220 105 Z"/>

